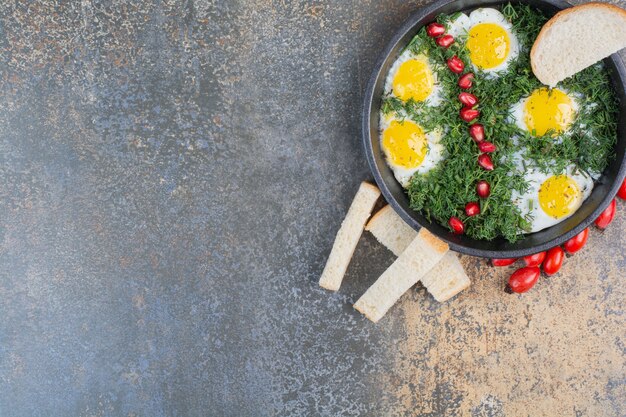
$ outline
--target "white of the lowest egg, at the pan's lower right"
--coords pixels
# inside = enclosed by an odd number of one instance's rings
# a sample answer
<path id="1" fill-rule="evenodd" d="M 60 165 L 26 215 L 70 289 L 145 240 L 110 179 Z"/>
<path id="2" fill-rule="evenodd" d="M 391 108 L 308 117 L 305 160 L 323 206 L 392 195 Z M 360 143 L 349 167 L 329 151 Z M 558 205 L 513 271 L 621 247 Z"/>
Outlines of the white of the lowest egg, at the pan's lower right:
<path id="1" fill-rule="evenodd" d="M 541 188 L 541 185 L 544 183 L 544 181 L 552 177 L 553 174 L 542 173 L 537 168 L 531 167 L 526 168 L 523 175 L 528 182 L 529 188 L 523 194 L 520 194 L 518 191 L 513 190 L 511 199 L 513 203 L 519 208 L 522 217 L 525 217 L 529 220 L 530 233 L 538 232 L 547 227 L 560 223 L 568 217 L 571 217 L 580 208 L 582 203 L 591 195 L 591 191 L 593 190 L 594 186 L 593 178 L 578 170 L 575 165 L 568 166 L 565 169 L 565 172 L 563 172 L 561 175 L 567 175 L 576 182 L 581 193 L 581 198 L 578 200 L 578 205 L 574 207 L 569 214 L 563 217 L 554 218 L 545 213 L 541 209 L 541 205 L 539 203 L 539 189 Z"/>

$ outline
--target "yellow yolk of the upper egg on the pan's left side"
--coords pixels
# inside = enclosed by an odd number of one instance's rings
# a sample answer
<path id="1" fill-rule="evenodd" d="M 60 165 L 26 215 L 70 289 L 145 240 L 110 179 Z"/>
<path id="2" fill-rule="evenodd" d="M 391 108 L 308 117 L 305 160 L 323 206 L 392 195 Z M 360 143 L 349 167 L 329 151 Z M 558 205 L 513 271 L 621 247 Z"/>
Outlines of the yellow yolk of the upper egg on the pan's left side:
<path id="1" fill-rule="evenodd" d="M 393 77 L 393 94 L 402 101 L 424 101 L 434 86 L 435 78 L 425 57 L 404 62 Z"/>

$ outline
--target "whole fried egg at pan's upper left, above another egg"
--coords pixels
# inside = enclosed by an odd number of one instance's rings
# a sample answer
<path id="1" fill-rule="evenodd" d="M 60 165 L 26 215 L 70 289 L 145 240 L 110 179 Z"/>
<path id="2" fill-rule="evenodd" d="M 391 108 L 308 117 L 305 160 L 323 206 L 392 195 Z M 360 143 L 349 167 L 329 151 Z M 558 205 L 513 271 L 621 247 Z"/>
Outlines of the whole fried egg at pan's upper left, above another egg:
<path id="1" fill-rule="evenodd" d="M 437 106 L 441 103 L 441 86 L 429 58 L 404 51 L 394 62 L 385 80 L 385 93 L 393 94 L 402 101 L 413 99 Z"/>

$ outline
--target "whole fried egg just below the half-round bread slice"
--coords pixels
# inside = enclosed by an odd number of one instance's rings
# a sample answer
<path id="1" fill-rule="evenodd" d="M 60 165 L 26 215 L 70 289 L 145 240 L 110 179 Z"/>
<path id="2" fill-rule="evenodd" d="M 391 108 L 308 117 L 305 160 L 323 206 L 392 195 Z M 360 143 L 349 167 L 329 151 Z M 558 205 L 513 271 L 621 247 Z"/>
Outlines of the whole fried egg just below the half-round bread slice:
<path id="1" fill-rule="evenodd" d="M 534 90 L 511 109 L 515 124 L 533 136 L 568 130 L 578 112 L 577 98 L 563 89 L 546 87 Z"/>

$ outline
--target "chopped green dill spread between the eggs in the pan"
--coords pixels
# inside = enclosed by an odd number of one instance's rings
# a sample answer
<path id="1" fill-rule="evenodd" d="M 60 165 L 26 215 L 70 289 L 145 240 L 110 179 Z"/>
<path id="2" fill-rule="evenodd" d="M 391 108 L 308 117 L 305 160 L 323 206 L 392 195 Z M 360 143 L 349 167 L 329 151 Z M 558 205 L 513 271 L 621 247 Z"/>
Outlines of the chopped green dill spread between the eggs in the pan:
<path id="1" fill-rule="evenodd" d="M 465 224 L 465 234 L 475 239 L 503 237 L 515 242 L 530 230 L 532 220 L 529 215 L 522 215 L 512 201 L 513 192 L 523 195 L 529 188 L 524 171 L 534 166 L 544 173 L 559 174 L 573 164 L 582 171 L 601 173 L 617 140 L 618 103 L 608 72 L 603 65 L 595 65 L 557 86 L 579 103 L 575 120 L 565 132 L 554 135 L 549 131 L 536 137 L 520 129 L 511 111 L 520 100 L 543 87 L 532 73 L 529 52 L 547 18 L 528 5 L 507 4 L 501 12 L 519 40 L 519 56 L 497 77 L 473 71 L 475 79 L 470 90 L 479 99 L 479 122 L 485 127 L 485 136 L 497 146 L 492 154 L 493 171 L 482 169 L 476 162 L 480 152 L 469 137 L 468 124 L 459 117 L 458 94 L 462 90 L 457 86 L 458 76 L 446 66 L 447 59 L 456 55 L 472 71 L 464 39 L 457 39 L 447 49 L 441 48 L 422 28 L 405 50 L 428 57 L 440 87 L 440 104 L 403 102 L 389 94 L 383 97 L 381 111 L 413 120 L 425 131 L 444 129 L 441 143 L 445 158 L 427 173 L 415 174 L 407 187 L 412 209 L 442 225 L 447 225 L 451 216 L 457 216 Z M 456 15 L 440 15 L 437 21 L 449 27 L 455 18 Z M 515 157 L 520 156 L 523 159 L 516 163 Z M 486 199 L 476 195 L 479 180 L 491 185 Z M 466 216 L 465 204 L 479 200 L 480 214 Z M 528 211 L 533 208 L 529 200 Z"/>

